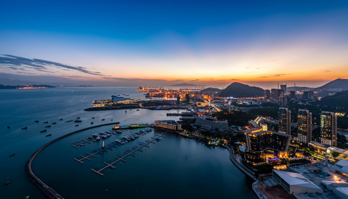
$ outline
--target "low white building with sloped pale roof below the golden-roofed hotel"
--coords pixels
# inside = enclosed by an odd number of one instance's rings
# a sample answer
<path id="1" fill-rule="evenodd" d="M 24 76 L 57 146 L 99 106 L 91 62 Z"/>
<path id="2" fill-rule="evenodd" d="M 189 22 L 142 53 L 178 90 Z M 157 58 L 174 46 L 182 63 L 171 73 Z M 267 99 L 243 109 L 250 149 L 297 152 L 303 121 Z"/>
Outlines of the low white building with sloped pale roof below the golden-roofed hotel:
<path id="1" fill-rule="evenodd" d="M 302 174 L 272 170 L 272 177 L 289 194 L 302 199 L 302 193 L 323 193 L 323 190 Z"/>

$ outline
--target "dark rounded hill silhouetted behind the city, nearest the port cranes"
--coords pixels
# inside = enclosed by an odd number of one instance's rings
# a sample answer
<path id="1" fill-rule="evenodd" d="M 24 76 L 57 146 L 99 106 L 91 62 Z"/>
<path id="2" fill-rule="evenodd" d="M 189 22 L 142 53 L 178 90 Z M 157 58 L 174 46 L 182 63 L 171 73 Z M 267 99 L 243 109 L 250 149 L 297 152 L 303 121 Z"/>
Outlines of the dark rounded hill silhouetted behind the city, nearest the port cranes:
<path id="1" fill-rule="evenodd" d="M 232 83 L 220 93 L 220 97 L 255 98 L 263 97 L 264 91 L 259 87 L 251 87 L 238 82 Z"/>

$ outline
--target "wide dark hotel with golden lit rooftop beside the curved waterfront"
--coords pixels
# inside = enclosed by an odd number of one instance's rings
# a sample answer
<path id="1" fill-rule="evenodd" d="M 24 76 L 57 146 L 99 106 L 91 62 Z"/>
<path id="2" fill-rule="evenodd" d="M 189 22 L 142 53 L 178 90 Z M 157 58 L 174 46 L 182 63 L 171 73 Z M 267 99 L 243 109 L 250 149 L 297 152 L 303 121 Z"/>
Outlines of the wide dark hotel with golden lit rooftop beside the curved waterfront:
<path id="1" fill-rule="evenodd" d="M 246 135 L 247 147 L 245 159 L 253 164 L 264 162 L 268 156 L 279 157 L 286 153 L 291 135 L 275 131 L 263 131 L 262 128 L 243 130 Z"/>

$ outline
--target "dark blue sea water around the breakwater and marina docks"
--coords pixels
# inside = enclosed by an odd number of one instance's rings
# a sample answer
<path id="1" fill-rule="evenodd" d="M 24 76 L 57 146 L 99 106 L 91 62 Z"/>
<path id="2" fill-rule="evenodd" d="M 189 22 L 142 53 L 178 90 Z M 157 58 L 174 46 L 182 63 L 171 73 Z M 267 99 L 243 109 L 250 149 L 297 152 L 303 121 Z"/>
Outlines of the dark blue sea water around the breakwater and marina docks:
<path id="1" fill-rule="evenodd" d="M 53 88 L 40 90 L 0 90 L 0 198 L 13 199 L 30 196 L 44 199 L 45 196 L 25 176 L 24 165 L 41 146 L 67 133 L 102 123 L 120 122 L 152 123 L 154 120 L 175 119 L 167 112 L 185 110 L 107 110 L 84 111 L 93 100 L 111 99 L 111 95 L 126 94 L 127 98 L 145 98 L 144 93 L 131 87 Z M 81 117 L 78 127 L 74 120 Z M 95 117 L 95 119 L 91 119 Z M 59 120 L 63 118 L 63 120 Z M 101 121 L 101 119 L 105 119 Z M 113 121 L 111 121 L 111 119 Z M 38 120 L 39 122 L 34 122 Z M 48 123 L 43 123 L 48 121 Z M 57 124 L 52 124 L 57 122 Z M 51 125 L 51 127 L 47 127 Z M 7 128 L 9 126 L 10 128 Z M 28 127 L 21 130 L 21 128 Z M 153 131 L 125 145 L 109 150 L 103 155 L 90 157 L 81 164 L 81 159 L 102 145 L 91 142 L 79 149 L 72 147 L 77 140 L 93 133 L 111 129 L 112 125 L 98 127 L 68 136 L 40 152 L 32 163 L 34 174 L 64 198 L 207 198 L 243 197 L 256 198 L 251 185 L 253 181 L 239 171 L 229 159 L 228 151 L 211 148 L 181 137 L 167 135 L 150 148 L 127 162 L 116 163 L 115 169 L 106 169 L 100 176 L 91 171 L 104 167 L 104 162 L 115 161 L 115 156 L 138 148 L 161 131 Z M 47 132 L 40 131 L 47 129 Z M 122 134 L 104 139 L 105 145 L 123 135 L 134 134 L 125 130 Z M 52 136 L 45 135 L 52 133 Z M 145 149 L 146 148 L 146 149 Z M 15 153 L 15 156 L 8 157 Z M 4 186 L 6 181 L 11 181 Z M 106 192 L 106 189 L 108 190 Z"/>

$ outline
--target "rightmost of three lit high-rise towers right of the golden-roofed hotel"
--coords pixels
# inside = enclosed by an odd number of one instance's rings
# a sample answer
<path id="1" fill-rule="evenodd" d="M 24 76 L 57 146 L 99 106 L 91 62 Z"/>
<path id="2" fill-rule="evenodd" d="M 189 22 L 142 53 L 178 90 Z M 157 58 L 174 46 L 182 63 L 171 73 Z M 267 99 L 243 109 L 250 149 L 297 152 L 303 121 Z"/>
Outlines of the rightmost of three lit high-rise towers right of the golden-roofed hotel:
<path id="1" fill-rule="evenodd" d="M 337 116 L 334 112 L 322 111 L 321 117 L 321 143 L 337 146 Z"/>

